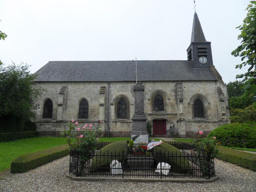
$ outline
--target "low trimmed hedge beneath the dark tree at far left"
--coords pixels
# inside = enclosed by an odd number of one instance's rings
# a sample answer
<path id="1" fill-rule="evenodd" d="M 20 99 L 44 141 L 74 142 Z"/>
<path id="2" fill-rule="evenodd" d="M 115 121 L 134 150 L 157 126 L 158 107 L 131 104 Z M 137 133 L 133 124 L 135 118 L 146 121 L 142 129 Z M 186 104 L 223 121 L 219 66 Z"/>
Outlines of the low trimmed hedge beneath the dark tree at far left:
<path id="1" fill-rule="evenodd" d="M 13 141 L 16 139 L 24 139 L 27 137 L 37 137 L 39 131 L 24 131 L 24 132 L 12 132 L 12 133 L 0 133 L 0 142 Z"/>

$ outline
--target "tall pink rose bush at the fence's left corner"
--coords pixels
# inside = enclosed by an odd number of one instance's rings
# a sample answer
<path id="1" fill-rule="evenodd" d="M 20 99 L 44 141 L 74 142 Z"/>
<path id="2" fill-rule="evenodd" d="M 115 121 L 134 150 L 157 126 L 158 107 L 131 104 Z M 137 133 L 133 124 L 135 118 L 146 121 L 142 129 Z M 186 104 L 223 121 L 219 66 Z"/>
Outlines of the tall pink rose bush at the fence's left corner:
<path id="1" fill-rule="evenodd" d="M 96 129 L 92 129 L 92 124 L 89 125 L 89 129 L 87 128 L 88 124 L 85 124 L 83 129 L 79 127 L 76 128 L 78 122 L 74 122 L 74 119 L 68 122 L 69 129 L 65 129 L 61 132 L 61 136 L 66 138 L 71 152 L 76 150 L 81 154 L 80 161 L 87 162 L 90 160 L 93 151 L 96 149 L 98 141 L 97 137 L 101 135 L 102 121 L 100 121 Z"/>

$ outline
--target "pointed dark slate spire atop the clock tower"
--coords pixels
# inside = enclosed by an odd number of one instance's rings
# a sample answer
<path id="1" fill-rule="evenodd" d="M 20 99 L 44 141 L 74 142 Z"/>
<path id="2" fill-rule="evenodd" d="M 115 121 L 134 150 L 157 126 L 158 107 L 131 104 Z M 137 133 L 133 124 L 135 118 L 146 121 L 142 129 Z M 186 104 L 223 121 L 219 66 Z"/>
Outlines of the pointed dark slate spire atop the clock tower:
<path id="1" fill-rule="evenodd" d="M 204 32 L 202 30 L 202 27 L 196 12 L 194 14 L 192 34 L 191 34 L 191 43 L 192 42 L 207 42 L 204 37 Z"/>

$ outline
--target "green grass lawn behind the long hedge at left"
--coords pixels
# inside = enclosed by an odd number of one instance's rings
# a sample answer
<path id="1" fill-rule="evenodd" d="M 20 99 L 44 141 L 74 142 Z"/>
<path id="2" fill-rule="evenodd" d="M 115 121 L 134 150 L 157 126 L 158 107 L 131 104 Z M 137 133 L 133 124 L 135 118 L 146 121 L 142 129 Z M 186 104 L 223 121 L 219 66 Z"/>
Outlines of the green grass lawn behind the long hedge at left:
<path id="1" fill-rule="evenodd" d="M 12 160 L 20 155 L 66 144 L 62 137 L 33 137 L 0 142 L 0 172 L 11 167 Z"/>

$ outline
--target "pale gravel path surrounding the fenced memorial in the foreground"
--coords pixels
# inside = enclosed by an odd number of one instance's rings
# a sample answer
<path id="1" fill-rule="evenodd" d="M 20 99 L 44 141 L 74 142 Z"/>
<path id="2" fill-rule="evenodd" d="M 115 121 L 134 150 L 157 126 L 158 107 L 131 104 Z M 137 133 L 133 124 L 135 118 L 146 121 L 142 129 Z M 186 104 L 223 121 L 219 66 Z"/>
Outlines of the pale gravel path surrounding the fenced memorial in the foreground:
<path id="1" fill-rule="evenodd" d="M 26 173 L 1 174 L 1 192 L 81 192 L 81 191 L 190 191 L 190 192 L 256 192 L 256 172 L 216 160 L 216 175 L 213 183 L 137 183 L 137 182 L 86 182 L 73 181 L 65 177 L 68 173 L 69 157 L 63 157 Z"/>

